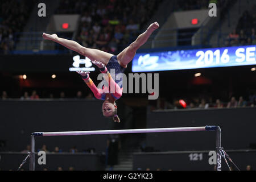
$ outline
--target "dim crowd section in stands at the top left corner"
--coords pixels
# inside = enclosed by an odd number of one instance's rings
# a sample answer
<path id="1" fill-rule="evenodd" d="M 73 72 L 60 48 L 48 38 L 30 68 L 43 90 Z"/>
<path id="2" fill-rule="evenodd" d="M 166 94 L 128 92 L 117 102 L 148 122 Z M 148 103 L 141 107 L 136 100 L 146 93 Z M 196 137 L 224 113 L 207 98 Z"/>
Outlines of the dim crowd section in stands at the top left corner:
<path id="1" fill-rule="evenodd" d="M 31 1 L 0 1 L 0 53 L 15 48 L 15 33 L 22 32 L 34 5 Z"/>

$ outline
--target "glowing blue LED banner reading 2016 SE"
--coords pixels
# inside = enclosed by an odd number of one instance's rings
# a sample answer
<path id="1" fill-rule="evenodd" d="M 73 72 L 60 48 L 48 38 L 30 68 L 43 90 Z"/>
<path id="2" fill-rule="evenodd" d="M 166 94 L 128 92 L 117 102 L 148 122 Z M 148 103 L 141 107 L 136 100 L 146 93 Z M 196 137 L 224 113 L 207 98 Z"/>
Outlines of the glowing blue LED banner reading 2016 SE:
<path id="1" fill-rule="evenodd" d="M 137 53 L 133 72 L 155 72 L 178 69 L 234 67 L 256 64 L 255 45 Z"/>

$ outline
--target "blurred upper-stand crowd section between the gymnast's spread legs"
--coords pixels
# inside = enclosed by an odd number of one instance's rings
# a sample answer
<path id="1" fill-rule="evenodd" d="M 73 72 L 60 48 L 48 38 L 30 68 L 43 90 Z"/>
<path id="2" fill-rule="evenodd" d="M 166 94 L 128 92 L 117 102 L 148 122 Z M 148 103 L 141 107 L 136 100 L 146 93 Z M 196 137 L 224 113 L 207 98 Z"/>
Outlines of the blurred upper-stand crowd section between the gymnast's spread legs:
<path id="1" fill-rule="evenodd" d="M 116 54 L 137 38 L 159 3 L 156 0 L 63 0 L 56 14 L 80 14 L 76 41 L 84 47 Z"/>

